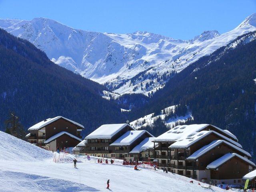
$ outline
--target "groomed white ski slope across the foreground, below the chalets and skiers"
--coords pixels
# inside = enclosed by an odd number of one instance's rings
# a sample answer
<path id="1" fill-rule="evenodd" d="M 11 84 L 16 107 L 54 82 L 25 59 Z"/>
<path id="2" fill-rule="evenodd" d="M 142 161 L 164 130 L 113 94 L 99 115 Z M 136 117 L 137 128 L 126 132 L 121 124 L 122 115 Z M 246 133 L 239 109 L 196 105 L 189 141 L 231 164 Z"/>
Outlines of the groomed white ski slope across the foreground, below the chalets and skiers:
<path id="1" fill-rule="evenodd" d="M 97 158 L 92 157 L 89 161 L 86 156 L 81 156 L 78 157 L 78 169 L 75 169 L 72 164 L 74 156 L 70 154 L 36 150 L 36 146 L 31 148 L 28 142 L 3 132 L 0 132 L 0 137 L 0 146 L 5 146 L 0 148 L 0 192 L 102 192 L 108 191 L 108 179 L 110 190 L 114 192 L 206 191 L 195 180 L 190 184 L 190 178 L 155 171 L 150 167 L 139 167 L 142 171 L 135 171 L 132 166 L 123 166 L 122 160 L 115 160 L 115 164 L 98 164 Z M 10 138 L 12 142 L 9 142 Z M 53 161 L 55 155 L 56 162 Z M 217 187 L 213 190 L 224 192 Z"/>

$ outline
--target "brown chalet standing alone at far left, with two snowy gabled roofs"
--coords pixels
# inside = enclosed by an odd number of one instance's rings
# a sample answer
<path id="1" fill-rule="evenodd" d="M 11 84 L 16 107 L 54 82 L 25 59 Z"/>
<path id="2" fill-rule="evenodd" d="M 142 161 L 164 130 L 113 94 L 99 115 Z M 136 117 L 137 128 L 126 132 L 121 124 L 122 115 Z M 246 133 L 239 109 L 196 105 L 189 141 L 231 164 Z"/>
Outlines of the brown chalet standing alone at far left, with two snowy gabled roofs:
<path id="1" fill-rule="evenodd" d="M 46 150 L 57 148 L 64 149 L 76 146 L 81 142 L 81 131 L 84 126 L 69 120 L 68 118 L 57 116 L 43 120 L 28 128 L 26 135 L 28 141 Z"/>

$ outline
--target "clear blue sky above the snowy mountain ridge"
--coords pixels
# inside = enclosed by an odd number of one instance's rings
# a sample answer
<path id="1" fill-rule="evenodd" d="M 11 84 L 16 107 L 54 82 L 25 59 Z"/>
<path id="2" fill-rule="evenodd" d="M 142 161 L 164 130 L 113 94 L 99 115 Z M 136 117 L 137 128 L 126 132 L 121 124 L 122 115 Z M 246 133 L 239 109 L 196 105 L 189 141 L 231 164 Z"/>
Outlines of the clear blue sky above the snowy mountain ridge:
<path id="1" fill-rule="evenodd" d="M 45 17 L 83 30 L 184 40 L 204 30 L 232 30 L 254 12 L 256 0 L 0 0 L 0 18 Z"/>

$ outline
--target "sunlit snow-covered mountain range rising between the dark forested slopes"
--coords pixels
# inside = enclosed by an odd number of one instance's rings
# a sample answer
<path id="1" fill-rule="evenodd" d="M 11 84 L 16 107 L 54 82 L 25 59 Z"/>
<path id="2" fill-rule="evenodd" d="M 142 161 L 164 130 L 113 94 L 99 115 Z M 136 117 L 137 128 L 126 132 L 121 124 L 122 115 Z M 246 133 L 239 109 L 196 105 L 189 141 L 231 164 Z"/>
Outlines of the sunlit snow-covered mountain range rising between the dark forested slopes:
<path id="1" fill-rule="evenodd" d="M 176 40 L 150 32 L 110 34 L 65 26 L 54 20 L 0 20 L 0 27 L 32 42 L 56 64 L 119 94 L 150 94 L 170 76 L 198 58 L 256 30 L 256 14 L 234 30 L 219 34 L 204 31 L 191 40 Z"/>

